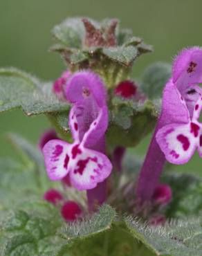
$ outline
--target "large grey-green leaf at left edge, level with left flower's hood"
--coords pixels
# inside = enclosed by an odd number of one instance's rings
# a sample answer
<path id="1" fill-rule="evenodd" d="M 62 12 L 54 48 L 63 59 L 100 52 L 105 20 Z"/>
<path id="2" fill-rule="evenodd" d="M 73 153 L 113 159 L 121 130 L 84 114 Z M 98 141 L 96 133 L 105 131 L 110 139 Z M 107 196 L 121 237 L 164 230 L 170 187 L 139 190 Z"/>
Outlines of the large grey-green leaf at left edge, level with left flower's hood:
<path id="1" fill-rule="evenodd" d="M 21 107 L 28 116 L 68 109 L 53 94 L 52 83 L 40 83 L 15 68 L 0 68 L 0 102 L 0 112 Z"/>

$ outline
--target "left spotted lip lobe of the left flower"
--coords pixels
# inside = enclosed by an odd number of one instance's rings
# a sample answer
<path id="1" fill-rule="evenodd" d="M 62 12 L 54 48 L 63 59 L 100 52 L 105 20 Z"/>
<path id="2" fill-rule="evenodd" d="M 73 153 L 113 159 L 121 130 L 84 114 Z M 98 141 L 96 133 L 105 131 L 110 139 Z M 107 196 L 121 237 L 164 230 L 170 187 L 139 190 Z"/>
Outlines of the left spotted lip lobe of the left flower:
<path id="1" fill-rule="evenodd" d="M 50 180 L 60 180 L 70 171 L 71 147 L 62 140 L 49 140 L 44 146 L 42 151 Z"/>

